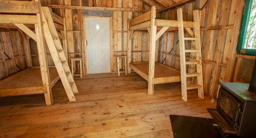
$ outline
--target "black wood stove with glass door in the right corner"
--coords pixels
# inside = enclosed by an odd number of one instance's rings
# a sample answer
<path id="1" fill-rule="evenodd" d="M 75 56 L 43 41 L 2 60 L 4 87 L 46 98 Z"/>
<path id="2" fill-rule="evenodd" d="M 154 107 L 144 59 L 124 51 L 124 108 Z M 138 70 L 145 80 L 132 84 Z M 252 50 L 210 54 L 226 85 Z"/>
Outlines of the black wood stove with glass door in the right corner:
<path id="1" fill-rule="evenodd" d="M 219 82 L 217 109 L 208 109 L 223 137 L 256 137 L 256 92 L 249 84 Z"/>

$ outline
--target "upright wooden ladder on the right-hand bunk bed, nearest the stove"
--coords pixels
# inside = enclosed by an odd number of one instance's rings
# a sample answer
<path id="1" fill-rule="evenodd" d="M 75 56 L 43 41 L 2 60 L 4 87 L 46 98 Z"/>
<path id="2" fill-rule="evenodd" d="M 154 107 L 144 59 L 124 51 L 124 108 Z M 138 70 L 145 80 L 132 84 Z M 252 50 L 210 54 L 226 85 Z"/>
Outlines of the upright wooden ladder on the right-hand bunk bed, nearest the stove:
<path id="1" fill-rule="evenodd" d="M 181 91 L 182 99 L 187 101 L 187 90 L 198 89 L 198 97 L 204 98 L 203 92 L 203 74 L 202 74 L 202 59 L 201 59 L 201 42 L 200 42 L 200 20 L 199 11 L 193 11 L 194 17 L 194 34 L 191 28 L 185 28 L 187 32 L 192 32 L 192 38 L 184 37 L 182 10 L 177 9 L 177 18 L 179 21 L 179 46 L 180 46 L 180 66 L 181 66 Z M 192 25 L 193 26 L 193 25 Z M 185 40 L 195 41 L 195 49 L 185 49 Z M 196 61 L 186 61 L 185 53 L 195 53 Z M 186 65 L 196 65 L 196 72 L 187 73 Z M 187 77 L 197 77 L 197 84 L 187 85 Z"/>

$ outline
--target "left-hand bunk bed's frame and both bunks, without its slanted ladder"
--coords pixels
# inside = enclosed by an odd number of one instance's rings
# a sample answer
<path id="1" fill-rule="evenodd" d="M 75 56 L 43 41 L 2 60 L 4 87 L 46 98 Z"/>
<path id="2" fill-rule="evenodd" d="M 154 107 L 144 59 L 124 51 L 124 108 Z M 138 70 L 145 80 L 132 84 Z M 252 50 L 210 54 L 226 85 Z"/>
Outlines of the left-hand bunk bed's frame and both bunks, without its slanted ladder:
<path id="1" fill-rule="evenodd" d="M 46 104 L 53 103 L 51 88 L 60 77 L 55 67 L 48 67 L 41 9 L 38 0 L 32 2 L 0 1 L 0 13 L 5 13 L 0 15 L 0 27 L 18 29 L 23 36 L 35 40 L 40 64 L 40 68 L 32 67 L 30 52 L 26 53 L 28 68 L 0 81 L 0 97 L 44 93 Z M 66 40 L 63 18 L 54 13 L 51 14 L 56 29 L 61 32 L 58 36 Z M 31 29 L 35 30 L 35 33 Z M 63 48 L 67 55 L 66 46 L 63 45 Z M 28 47 L 25 50 L 30 51 Z"/>

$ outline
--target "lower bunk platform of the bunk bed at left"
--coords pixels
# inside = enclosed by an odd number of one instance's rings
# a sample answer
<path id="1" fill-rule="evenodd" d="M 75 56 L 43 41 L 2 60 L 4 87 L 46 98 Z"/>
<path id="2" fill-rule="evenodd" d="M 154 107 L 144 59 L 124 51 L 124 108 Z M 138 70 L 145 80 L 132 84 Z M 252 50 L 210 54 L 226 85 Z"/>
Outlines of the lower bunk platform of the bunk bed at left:
<path id="1" fill-rule="evenodd" d="M 51 87 L 60 79 L 55 67 L 49 67 Z M 40 68 L 27 68 L 0 80 L 0 97 L 46 93 Z"/>

